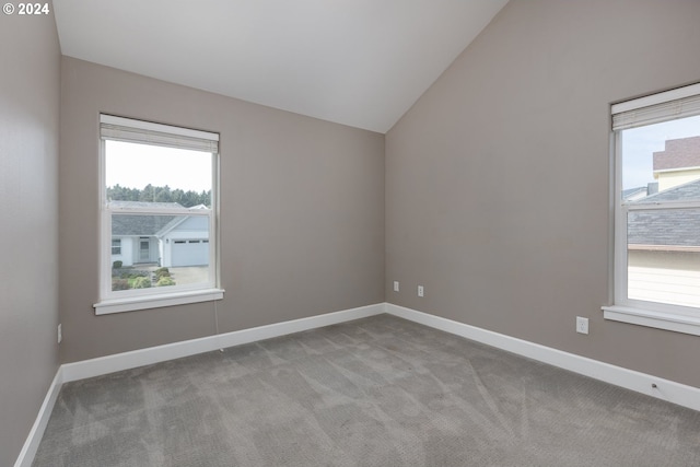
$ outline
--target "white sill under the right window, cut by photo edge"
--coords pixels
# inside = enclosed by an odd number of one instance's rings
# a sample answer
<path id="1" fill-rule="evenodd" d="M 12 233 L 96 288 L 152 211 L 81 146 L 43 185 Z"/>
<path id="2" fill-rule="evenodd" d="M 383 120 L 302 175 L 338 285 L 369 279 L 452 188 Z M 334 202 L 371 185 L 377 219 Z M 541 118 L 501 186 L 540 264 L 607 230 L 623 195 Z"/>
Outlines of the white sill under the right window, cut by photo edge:
<path id="1" fill-rule="evenodd" d="M 605 319 L 614 322 L 700 336 L 700 315 L 696 317 L 618 305 L 603 306 L 603 312 Z"/>

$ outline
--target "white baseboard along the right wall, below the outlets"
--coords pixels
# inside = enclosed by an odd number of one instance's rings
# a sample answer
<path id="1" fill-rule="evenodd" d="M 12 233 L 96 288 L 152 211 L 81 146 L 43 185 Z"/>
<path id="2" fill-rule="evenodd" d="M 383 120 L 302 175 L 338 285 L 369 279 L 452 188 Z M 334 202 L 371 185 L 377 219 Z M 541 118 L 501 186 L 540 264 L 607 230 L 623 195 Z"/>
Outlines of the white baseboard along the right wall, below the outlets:
<path id="1" fill-rule="evenodd" d="M 700 388 L 387 303 L 386 313 L 700 411 Z M 652 385 L 655 385 L 652 386 Z"/>

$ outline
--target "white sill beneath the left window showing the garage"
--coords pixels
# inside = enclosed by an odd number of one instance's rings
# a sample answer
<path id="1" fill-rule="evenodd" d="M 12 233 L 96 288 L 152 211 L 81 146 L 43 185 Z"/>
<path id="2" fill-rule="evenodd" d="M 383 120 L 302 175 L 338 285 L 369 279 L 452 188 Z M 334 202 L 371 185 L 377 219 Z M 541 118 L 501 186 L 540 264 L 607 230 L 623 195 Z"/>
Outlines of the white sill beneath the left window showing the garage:
<path id="1" fill-rule="evenodd" d="M 137 310 L 161 308 L 163 306 L 185 305 L 188 303 L 212 302 L 223 299 L 223 289 L 205 289 L 187 292 L 137 296 L 129 299 L 103 300 L 92 305 L 96 315 L 135 312 Z"/>

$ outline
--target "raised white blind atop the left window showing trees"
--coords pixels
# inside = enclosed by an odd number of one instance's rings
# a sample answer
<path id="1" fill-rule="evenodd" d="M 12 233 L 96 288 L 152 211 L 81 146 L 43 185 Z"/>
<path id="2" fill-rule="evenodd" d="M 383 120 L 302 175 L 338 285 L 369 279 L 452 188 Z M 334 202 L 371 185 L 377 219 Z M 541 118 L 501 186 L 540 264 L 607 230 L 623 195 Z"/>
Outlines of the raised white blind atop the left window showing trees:
<path id="1" fill-rule="evenodd" d="M 115 117 L 113 115 L 100 116 L 100 137 L 114 141 L 219 153 L 218 133 Z"/>

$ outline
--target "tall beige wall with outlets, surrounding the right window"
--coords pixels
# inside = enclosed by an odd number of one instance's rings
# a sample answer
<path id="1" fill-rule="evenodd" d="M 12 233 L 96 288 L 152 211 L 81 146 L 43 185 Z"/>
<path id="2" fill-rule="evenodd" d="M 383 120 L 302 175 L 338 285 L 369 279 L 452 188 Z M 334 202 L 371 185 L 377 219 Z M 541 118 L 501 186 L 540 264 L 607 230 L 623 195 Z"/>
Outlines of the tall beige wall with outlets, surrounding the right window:
<path id="1" fill-rule="evenodd" d="M 700 387 L 697 336 L 600 311 L 609 104 L 700 80 L 698 17 L 695 0 L 511 1 L 386 136 L 387 301 Z"/>

